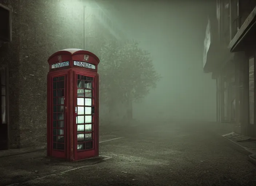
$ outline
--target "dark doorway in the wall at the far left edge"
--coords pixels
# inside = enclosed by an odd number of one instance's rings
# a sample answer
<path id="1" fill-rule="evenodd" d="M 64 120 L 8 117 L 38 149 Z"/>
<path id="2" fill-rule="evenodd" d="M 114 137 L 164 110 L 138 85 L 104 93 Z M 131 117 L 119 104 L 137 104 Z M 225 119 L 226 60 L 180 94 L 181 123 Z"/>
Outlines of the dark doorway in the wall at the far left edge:
<path id="1" fill-rule="evenodd" d="M 0 150 L 9 148 L 8 140 L 8 76 L 7 69 L 0 69 L 1 82 L 1 115 L 0 115 Z"/>

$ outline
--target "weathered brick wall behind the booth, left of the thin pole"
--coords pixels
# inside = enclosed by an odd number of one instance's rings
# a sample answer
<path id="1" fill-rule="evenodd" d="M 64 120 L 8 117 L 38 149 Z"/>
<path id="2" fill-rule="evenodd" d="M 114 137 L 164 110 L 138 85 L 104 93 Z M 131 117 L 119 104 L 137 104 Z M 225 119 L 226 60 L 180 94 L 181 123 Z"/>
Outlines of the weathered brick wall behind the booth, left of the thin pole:
<path id="1" fill-rule="evenodd" d="M 2 48 L 10 66 L 11 147 L 46 142 L 48 57 L 83 49 L 83 3 L 79 0 L 0 0 L 13 7 L 13 41 Z M 3 59 L 1 59 L 3 61 Z M 12 69 L 12 66 L 13 67 Z"/>

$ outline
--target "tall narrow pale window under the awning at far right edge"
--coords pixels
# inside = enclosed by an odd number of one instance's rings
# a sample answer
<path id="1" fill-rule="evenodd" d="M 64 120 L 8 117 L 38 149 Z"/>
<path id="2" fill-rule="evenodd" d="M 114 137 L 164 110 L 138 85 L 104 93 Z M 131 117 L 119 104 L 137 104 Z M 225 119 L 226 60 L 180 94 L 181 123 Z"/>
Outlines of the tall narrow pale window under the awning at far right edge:
<path id="1" fill-rule="evenodd" d="M 254 124 L 254 57 L 249 59 L 249 121 Z"/>

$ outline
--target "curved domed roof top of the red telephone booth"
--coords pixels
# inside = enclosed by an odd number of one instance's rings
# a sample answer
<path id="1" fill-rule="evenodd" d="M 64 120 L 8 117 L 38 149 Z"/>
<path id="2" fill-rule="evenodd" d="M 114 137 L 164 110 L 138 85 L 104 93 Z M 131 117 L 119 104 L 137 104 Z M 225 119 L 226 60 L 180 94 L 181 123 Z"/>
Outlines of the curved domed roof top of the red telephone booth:
<path id="1" fill-rule="evenodd" d="M 68 48 L 68 49 L 63 49 L 63 50 L 59 50 L 58 52 L 53 53 L 49 58 L 48 61 L 57 55 L 61 55 L 61 54 L 70 54 L 71 56 L 76 55 L 76 54 L 88 54 L 90 56 L 92 56 L 93 58 L 95 58 L 95 60 L 99 63 L 100 59 L 92 52 L 88 51 L 88 50 L 82 50 L 82 49 L 77 49 L 77 48 Z"/>

